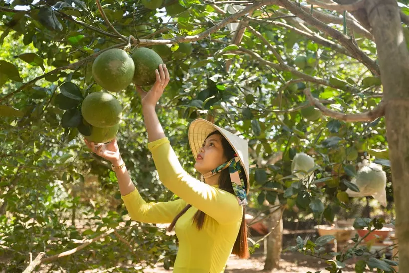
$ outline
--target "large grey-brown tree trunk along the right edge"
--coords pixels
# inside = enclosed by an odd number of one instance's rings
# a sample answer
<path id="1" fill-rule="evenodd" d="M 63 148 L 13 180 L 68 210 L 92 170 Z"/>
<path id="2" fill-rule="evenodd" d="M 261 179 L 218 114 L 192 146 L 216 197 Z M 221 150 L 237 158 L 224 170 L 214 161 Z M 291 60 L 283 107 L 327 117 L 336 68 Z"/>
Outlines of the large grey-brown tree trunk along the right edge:
<path id="1" fill-rule="evenodd" d="M 367 0 L 378 52 L 391 160 L 399 269 L 409 272 L 409 56 L 396 0 Z"/>

